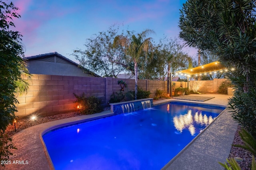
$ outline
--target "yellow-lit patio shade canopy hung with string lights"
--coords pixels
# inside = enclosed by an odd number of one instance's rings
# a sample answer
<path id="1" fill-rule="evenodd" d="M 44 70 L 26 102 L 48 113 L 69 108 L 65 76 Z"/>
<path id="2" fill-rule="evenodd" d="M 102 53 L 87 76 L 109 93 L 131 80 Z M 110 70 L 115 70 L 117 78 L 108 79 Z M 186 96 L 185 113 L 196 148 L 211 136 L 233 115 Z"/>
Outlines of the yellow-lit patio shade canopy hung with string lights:
<path id="1" fill-rule="evenodd" d="M 186 69 L 186 70 L 182 70 L 182 71 L 178 71 L 178 74 L 188 74 L 188 75 L 194 75 L 194 74 L 202 74 L 202 73 L 206 73 L 206 72 L 214 72 L 214 71 L 218 71 L 218 70 L 223 70 L 226 67 L 224 65 L 222 65 L 220 62 L 216 61 L 216 62 L 212 62 L 209 64 L 205 64 L 202 66 L 198 66 L 195 68 L 190 68 L 190 69 Z"/>

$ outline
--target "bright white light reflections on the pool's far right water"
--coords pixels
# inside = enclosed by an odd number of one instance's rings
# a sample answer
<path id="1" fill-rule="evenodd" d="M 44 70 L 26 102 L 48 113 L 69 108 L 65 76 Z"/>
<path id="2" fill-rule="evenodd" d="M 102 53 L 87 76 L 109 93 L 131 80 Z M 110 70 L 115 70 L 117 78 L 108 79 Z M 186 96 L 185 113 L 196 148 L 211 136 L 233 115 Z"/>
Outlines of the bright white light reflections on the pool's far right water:
<path id="1" fill-rule="evenodd" d="M 198 111 L 194 114 L 194 120 L 192 115 L 192 110 L 188 110 L 188 113 L 185 115 L 174 116 L 173 122 L 175 128 L 182 133 L 184 129 L 188 129 L 192 136 L 196 133 L 196 128 L 194 127 L 194 123 L 198 125 L 207 126 L 213 121 L 212 116 L 207 117 L 206 114 L 202 115 L 202 112 L 198 113 Z"/>

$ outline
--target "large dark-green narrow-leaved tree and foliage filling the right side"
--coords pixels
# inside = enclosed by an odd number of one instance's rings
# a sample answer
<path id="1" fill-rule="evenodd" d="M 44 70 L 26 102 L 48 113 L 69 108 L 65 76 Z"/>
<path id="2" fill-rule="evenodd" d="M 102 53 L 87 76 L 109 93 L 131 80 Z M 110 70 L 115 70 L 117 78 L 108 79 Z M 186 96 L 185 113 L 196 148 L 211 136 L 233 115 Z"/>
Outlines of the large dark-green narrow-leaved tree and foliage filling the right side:
<path id="1" fill-rule="evenodd" d="M 256 136 L 256 1 L 188 0 L 180 10 L 180 37 L 218 56 L 236 86 L 232 115 Z M 248 100 L 250 99 L 250 100 Z"/>

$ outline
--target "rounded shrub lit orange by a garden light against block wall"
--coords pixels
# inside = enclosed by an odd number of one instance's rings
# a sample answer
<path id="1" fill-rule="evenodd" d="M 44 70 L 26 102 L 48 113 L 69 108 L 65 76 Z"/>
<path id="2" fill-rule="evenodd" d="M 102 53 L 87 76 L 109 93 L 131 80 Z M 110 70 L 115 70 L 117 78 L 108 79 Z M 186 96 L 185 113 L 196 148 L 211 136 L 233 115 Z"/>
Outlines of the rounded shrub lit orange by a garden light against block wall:
<path id="1" fill-rule="evenodd" d="M 80 106 L 80 113 L 84 115 L 90 115 L 103 111 L 101 100 L 99 98 L 94 96 L 86 97 L 84 93 L 82 96 L 77 96 L 76 94 L 74 94 L 74 96 L 76 96 L 76 102 L 78 102 L 78 105 Z"/>

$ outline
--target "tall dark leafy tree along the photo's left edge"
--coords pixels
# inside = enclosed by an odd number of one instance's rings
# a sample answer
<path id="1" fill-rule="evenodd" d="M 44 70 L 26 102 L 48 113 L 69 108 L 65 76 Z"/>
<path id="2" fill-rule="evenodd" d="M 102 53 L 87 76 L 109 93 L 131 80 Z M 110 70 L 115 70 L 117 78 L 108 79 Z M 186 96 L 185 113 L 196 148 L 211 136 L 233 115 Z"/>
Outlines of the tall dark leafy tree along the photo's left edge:
<path id="1" fill-rule="evenodd" d="M 22 73 L 28 73 L 23 60 L 22 35 L 12 30 L 13 18 L 20 18 L 17 10 L 12 2 L 7 4 L 0 0 L 0 160 L 8 160 L 12 155 L 10 149 L 16 149 L 12 139 L 4 134 L 15 119 L 15 104 L 18 103 L 15 92 L 28 89 L 28 83 L 21 78 Z"/>

